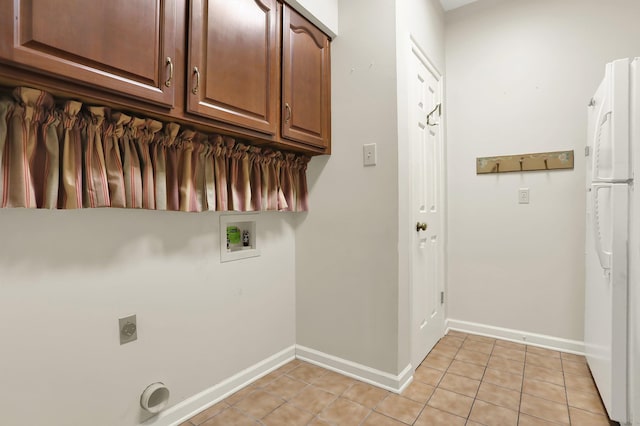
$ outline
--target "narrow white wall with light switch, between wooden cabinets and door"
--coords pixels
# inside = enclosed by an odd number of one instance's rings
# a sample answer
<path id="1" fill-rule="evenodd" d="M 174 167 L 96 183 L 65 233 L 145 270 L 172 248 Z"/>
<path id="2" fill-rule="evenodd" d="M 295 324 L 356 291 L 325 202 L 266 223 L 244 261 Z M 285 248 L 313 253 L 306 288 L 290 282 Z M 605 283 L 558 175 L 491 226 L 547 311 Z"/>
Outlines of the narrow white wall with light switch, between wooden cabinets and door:
<path id="1" fill-rule="evenodd" d="M 396 372 L 395 5 L 343 0 L 338 6 L 332 155 L 309 164 L 310 211 L 296 229 L 296 340 Z M 377 166 L 362 166 L 364 143 L 377 144 Z"/>

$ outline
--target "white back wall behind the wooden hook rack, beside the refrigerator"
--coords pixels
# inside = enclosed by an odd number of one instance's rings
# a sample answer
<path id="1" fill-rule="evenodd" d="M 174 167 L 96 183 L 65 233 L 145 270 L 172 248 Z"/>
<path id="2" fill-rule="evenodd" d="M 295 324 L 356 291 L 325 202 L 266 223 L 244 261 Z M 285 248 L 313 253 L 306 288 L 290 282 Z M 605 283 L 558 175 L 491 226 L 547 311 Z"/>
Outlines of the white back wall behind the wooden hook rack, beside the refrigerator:
<path id="1" fill-rule="evenodd" d="M 607 61 L 640 54 L 639 16 L 635 0 L 447 14 L 450 318 L 583 339 L 587 102 Z M 569 149 L 571 171 L 475 174 L 476 157 Z"/>

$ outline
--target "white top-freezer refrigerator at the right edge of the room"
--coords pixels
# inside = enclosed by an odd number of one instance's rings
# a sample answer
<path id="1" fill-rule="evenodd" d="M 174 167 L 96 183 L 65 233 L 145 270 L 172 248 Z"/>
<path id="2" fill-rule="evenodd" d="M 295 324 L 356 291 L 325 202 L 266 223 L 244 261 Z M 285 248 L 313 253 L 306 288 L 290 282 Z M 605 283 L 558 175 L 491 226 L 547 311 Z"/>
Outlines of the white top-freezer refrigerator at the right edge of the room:
<path id="1" fill-rule="evenodd" d="M 640 264 L 634 170 L 640 167 L 640 58 L 609 63 L 589 102 L 585 352 L 612 420 L 630 422 Z M 636 415 L 640 415 L 637 413 Z"/>

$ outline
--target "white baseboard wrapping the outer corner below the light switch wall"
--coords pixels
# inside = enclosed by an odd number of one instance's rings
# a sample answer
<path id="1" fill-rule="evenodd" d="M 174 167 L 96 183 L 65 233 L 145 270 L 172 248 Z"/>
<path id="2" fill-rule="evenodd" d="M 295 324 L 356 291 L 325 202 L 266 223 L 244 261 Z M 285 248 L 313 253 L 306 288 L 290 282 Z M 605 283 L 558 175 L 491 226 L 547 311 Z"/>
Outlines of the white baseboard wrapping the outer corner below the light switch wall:
<path id="1" fill-rule="evenodd" d="M 413 380 L 411 364 L 393 375 L 301 345 L 296 345 L 296 358 L 394 393 L 402 392 Z"/>

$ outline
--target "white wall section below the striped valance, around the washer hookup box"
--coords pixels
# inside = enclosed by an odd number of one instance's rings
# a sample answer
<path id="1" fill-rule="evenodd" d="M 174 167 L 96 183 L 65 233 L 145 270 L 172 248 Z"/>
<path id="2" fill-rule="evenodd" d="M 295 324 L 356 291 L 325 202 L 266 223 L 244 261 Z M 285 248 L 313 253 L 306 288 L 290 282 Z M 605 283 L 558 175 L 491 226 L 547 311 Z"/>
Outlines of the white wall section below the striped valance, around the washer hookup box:
<path id="1" fill-rule="evenodd" d="M 221 264 L 216 213 L 0 210 L 0 424 L 137 425 L 152 382 L 174 405 L 293 345 L 293 220 Z"/>

